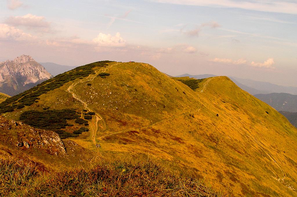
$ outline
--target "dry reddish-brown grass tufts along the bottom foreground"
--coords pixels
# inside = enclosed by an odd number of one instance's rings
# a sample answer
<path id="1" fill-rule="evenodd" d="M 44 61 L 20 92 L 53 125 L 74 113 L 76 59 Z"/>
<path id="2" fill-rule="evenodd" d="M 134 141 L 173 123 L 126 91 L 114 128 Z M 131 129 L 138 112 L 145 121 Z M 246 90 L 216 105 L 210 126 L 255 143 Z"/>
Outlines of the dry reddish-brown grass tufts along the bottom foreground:
<path id="1" fill-rule="evenodd" d="M 21 161 L 0 162 L 0 196 L 223 196 L 152 162 L 102 162 L 90 169 L 41 173 Z"/>

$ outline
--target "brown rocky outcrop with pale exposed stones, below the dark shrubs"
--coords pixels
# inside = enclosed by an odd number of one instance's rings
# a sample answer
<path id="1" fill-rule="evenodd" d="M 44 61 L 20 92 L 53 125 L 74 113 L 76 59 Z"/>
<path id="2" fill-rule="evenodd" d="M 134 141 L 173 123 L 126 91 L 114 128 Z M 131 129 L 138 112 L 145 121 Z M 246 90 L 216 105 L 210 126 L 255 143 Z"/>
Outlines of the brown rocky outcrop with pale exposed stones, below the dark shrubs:
<path id="1" fill-rule="evenodd" d="M 53 131 L 33 128 L 22 122 L 7 120 L 3 116 L 0 116 L 0 130 L 1 139 L 7 139 L 6 143 L 15 144 L 21 149 L 38 148 L 51 155 L 66 155 L 63 141 Z M 13 137 L 15 134 L 17 136 Z"/>

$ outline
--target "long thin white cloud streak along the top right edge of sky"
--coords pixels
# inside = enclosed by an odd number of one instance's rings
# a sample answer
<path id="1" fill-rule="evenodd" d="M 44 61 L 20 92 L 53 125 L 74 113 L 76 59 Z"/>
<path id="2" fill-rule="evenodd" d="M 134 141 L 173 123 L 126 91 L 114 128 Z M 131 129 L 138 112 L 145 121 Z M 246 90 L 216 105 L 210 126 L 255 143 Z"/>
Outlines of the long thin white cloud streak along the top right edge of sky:
<path id="1" fill-rule="evenodd" d="M 286 14 L 297 14 L 296 1 L 259 0 L 259 1 L 232 1 L 232 0 L 150 0 L 159 3 L 196 5 L 207 7 L 232 7 L 256 10 L 262 12 L 276 12 Z"/>

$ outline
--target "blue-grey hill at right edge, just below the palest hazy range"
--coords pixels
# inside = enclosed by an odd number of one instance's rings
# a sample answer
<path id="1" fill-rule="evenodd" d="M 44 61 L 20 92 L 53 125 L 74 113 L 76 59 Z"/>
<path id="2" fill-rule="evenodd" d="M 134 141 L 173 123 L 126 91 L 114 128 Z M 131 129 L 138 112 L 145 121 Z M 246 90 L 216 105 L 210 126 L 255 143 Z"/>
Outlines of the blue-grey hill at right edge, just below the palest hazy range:
<path id="1" fill-rule="evenodd" d="M 297 95 L 288 93 L 256 94 L 255 97 L 277 111 L 297 112 Z"/>

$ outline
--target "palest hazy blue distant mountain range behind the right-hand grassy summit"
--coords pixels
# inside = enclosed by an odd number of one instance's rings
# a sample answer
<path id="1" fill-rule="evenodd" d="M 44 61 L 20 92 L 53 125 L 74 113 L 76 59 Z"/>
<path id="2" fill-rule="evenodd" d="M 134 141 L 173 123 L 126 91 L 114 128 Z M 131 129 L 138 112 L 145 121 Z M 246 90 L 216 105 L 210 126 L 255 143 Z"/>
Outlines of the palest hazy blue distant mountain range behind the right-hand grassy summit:
<path id="1" fill-rule="evenodd" d="M 182 74 L 176 77 L 189 76 L 195 79 L 203 79 L 208 77 L 215 77 L 213 74 Z M 297 87 L 276 85 L 269 82 L 254 81 L 250 79 L 241 79 L 238 77 L 228 76 L 239 88 L 247 91 L 248 93 L 255 94 L 269 94 L 269 93 L 289 93 L 297 95 Z"/>

